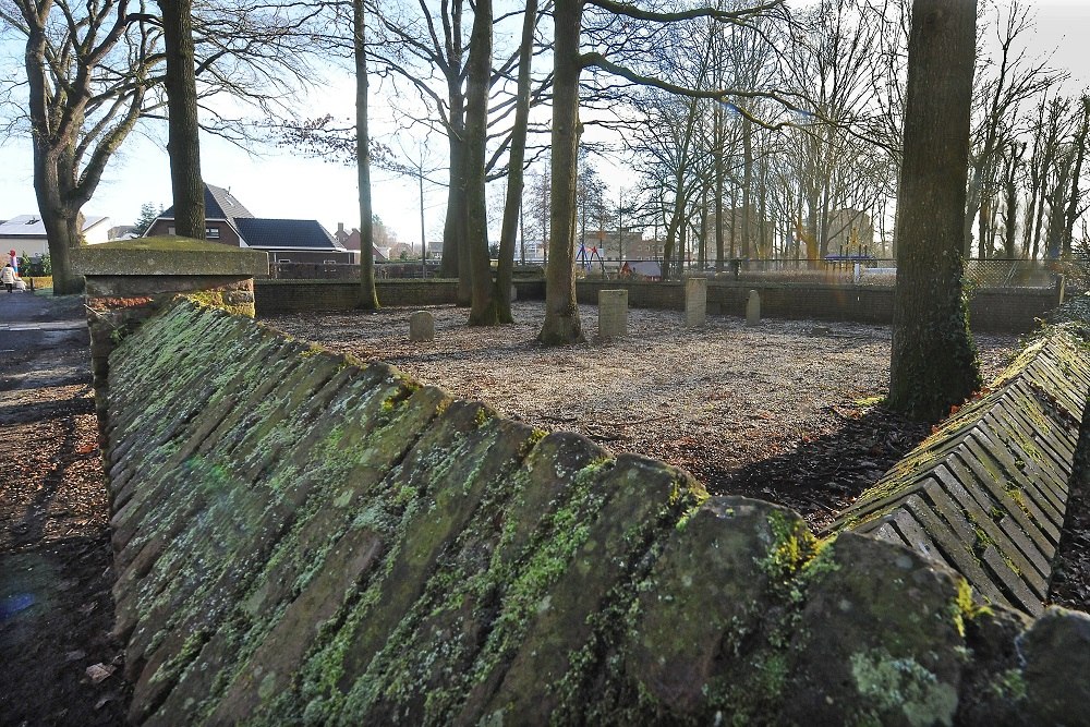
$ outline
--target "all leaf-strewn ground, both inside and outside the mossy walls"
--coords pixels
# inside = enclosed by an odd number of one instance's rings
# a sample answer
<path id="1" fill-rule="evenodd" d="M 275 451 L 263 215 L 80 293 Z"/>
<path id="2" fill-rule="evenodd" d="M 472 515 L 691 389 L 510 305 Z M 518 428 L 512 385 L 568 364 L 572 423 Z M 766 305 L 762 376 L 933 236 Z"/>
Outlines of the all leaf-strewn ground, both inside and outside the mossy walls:
<path id="1" fill-rule="evenodd" d="M 572 429 L 615 451 L 689 469 L 713 492 L 799 509 L 815 528 L 927 434 L 879 405 L 887 328 L 632 311 L 630 337 L 559 351 L 532 344 L 538 304 L 519 324 L 470 329 L 433 308 L 437 338 L 408 341 L 407 310 L 280 316 L 265 323 L 362 359 L 390 361 L 508 416 Z M 582 308 L 593 335 L 596 310 Z M 1017 347 L 980 341 L 988 374 Z M 124 652 L 113 605 L 108 502 L 96 448 L 78 299 L 0 294 L 0 725 L 123 724 Z M 1081 512 L 1081 519 L 1080 513 Z M 1056 603 L 1090 602 L 1090 507 L 1073 497 Z"/>

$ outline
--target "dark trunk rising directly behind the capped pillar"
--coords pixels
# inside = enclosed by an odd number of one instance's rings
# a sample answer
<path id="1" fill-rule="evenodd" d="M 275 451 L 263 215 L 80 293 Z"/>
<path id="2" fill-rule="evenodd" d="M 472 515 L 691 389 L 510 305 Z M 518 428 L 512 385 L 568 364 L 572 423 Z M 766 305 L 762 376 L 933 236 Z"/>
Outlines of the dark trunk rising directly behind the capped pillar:
<path id="1" fill-rule="evenodd" d="M 167 57 L 167 153 L 174 198 L 174 232 L 205 238 L 204 180 L 201 178 L 201 128 L 197 123 L 196 66 L 192 0 L 158 0 Z"/>

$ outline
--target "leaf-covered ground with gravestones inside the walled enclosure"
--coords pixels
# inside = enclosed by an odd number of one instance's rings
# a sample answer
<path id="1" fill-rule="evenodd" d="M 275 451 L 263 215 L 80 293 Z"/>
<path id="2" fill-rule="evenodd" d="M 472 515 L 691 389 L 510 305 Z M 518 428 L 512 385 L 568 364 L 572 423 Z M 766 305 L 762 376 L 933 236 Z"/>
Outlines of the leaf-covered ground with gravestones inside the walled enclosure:
<path id="1" fill-rule="evenodd" d="M 428 308 L 436 338 L 408 339 L 404 310 L 298 314 L 265 323 L 364 360 L 392 363 L 457 397 L 481 399 L 540 428 L 583 434 L 615 451 L 692 472 L 713 493 L 795 508 L 815 530 L 832 522 L 930 427 L 881 405 L 891 330 L 860 324 L 711 316 L 687 330 L 674 311 L 629 311 L 629 335 L 595 337 L 597 308 L 582 306 L 588 342 L 533 343 L 540 303 L 517 323 L 470 328 L 467 312 Z M 978 337 L 985 379 L 1018 349 L 1015 336 Z"/>

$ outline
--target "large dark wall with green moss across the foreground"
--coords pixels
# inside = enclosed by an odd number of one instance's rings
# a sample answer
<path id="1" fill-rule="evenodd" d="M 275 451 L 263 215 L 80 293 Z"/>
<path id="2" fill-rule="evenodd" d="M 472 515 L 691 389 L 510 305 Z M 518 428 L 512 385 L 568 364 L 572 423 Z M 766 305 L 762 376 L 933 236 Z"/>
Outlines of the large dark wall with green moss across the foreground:
<path id="1" fill-rule="evenodd" d="M 111 362 L 135 724 L 1085 717 L 1090 619 L 904 546 L 184 300 Z"/>

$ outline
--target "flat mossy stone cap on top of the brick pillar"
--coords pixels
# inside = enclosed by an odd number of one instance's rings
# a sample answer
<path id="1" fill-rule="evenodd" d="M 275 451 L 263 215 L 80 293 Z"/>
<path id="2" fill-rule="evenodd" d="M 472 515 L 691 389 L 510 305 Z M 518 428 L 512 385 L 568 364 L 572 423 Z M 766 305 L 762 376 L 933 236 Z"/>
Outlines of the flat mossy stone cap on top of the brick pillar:
<path id="1" fill-rule="evenodd" d="M 117 240 L 72 251 L 72 270 L 83 276 L 267 276 L 268 254 L 192 238 Z"/>

